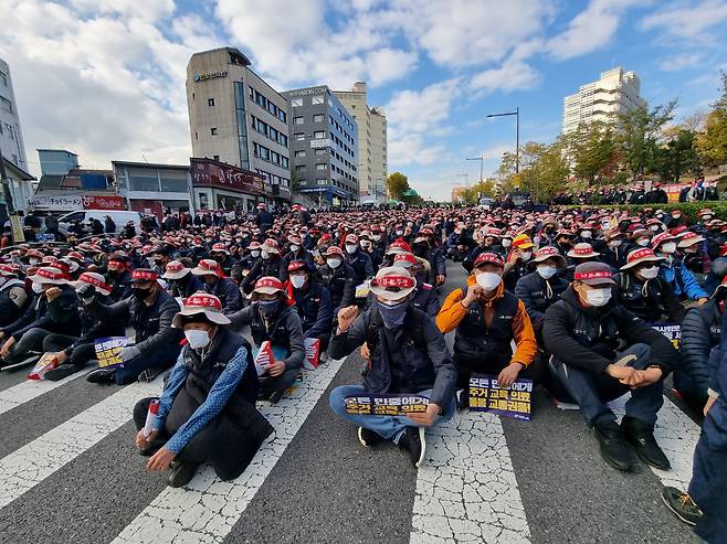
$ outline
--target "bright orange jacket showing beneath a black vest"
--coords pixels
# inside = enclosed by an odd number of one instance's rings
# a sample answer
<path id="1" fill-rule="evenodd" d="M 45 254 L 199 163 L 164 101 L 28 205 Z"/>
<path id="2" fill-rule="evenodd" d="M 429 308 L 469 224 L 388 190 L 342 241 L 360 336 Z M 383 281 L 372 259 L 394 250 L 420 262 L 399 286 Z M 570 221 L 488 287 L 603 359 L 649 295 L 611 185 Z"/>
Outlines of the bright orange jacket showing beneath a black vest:
<path id="1" fill-rule="evenodd" d="M 471 286 L 475 282 L 476 280 L 474 276 L 471 275 L 467 278 L 467 286 Z M 485 321 L 487 327 L 489 327 L 492 323 L 497 300 L 503 298 L 504 294 L 505 286 L 501 282 L 497 287 L 497 292 L 493 298 L 487 301 L 477 300 L 476 302 L 473 302 L 483 305 L 485 309 Z M 446 296 L 446 299 L 442 305 L 442 309 L 436 314 L 436 326 L 439 327 L 440 331 L 442 331 L 442 334 L 456 329 L 460 322 L 467 314 L 467 309 L 460 303 L 464 297 L 465 292 L 461 288 L 454 289 Z M 535 332 L 533 331 L 530 317 L 528 316 L 527 310 L 525 309 L 525 305 L 521 300 L 517 301 L 517 311 L 513 317 L 513 340 L 515 340 L 517 348 L 512 361 L 521 363 L 525 366 L 529 366 L 538 352 L 538 342 L 535 339 Z"/>

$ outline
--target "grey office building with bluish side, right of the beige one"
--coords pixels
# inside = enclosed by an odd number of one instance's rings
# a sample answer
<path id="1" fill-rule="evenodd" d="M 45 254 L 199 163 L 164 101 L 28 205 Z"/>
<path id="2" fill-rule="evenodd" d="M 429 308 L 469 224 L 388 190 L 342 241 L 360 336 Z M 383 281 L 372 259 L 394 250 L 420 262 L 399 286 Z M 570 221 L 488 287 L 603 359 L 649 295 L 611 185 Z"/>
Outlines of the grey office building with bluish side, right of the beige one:
<path id="1" fill-rule="evenodd" d="M 359 201 L 358 125 L 325 85 L 283 93 L 288 100 L 292 177 L 323 202 Z"/>

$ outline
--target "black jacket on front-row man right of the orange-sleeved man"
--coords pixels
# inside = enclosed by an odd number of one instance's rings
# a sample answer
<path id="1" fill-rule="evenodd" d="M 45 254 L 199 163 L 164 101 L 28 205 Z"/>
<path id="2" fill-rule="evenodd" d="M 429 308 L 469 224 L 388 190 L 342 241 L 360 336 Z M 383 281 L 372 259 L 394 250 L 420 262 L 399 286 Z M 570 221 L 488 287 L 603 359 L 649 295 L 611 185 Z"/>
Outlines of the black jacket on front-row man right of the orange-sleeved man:
<path id="1" fill-rule="evenodd" d="M 635 343 L 651 346 L 652 364 L 661 366 L 664 375 L 679 364 L 666 337 L 613 300 L 602 308 L 583 308 L 572 286 L 546 311 L 542 337 L 546 349 L 558 360 L 596 374 L 605 372 L 617 351 Z"/>

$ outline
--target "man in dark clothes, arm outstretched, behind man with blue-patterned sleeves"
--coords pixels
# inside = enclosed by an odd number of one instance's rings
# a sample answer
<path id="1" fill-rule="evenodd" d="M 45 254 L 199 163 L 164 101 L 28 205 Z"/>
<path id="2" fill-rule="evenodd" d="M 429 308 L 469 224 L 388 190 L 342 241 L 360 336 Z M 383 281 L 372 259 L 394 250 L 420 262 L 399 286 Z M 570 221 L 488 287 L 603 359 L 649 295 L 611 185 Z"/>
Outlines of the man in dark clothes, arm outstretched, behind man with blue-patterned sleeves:
<path id="1" fill-rule="evenodd" d="M 181 332 L 172 329 L 171 320 L 179 305 L 158 282 L 157 273 L 137 268 L 131 274 L 134 296 L 113 305 L 96 298 L 93 285 L 78 288 L 78 298 L 86 311 L 106 323 L 127 323 L 134 327 L 135 343 L 120 352 L 123 366 L 97 369 L 86 375 L 91 383 L 126 385 L 137 380 L 154 380 L 177 360 Z"/>

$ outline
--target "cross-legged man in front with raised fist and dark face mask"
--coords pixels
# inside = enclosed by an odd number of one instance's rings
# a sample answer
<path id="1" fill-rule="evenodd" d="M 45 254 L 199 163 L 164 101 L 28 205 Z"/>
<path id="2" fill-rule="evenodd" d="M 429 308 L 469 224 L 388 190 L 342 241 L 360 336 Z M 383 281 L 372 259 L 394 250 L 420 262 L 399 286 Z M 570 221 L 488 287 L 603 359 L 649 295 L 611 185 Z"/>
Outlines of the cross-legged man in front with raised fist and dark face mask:
<path id="1" fill-rule="evenodd" d="M 357 306 L 338 312 L 330 356 L 344 359 L 366 342 L 371 367 L 362 385 L 336 387 L 329 404 L 336 415 L 358 426 L 362 446 L 391 440 L 421 467 L 426 452 L 424 428 L 454 415 L 456 370 L 434 320 L 409 305 L 414 288 L 414 278 L 407 270 L 383 267 L 371 281 L 376 296 L 371 308 L 360 314 Z M 424 413 L 409 416 L 348 414 L 346 397 L 358 393 L 420 395 L 428 397 L 429 404 Z"/>

